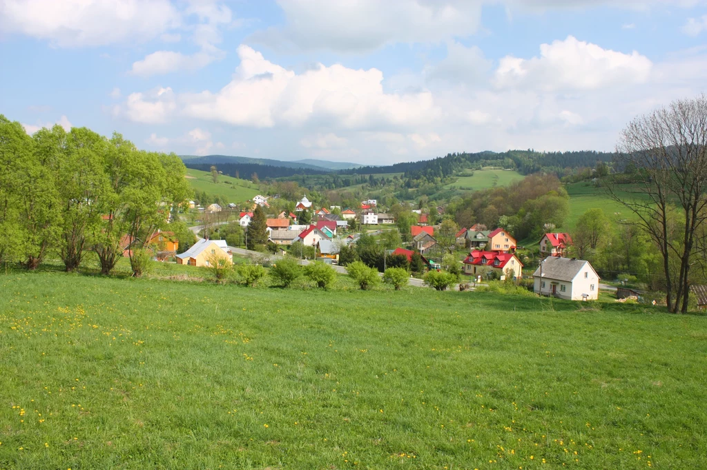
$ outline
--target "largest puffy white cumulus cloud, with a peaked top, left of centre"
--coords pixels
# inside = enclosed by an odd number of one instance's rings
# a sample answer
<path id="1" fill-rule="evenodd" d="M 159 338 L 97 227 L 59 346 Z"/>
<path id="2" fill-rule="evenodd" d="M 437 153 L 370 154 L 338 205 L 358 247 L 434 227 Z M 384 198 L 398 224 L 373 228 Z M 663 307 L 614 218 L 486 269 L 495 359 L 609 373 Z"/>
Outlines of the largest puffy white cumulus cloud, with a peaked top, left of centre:
<path id="1" fill-rule="evenodd" d="M 431 92 L 386 93 L 375 68 L 354 70 L 318 64 L 295 73 L 241 45 L 240 64 L 218 92 L 183 93 L 170 88 L 133 93 L 124 114 L 138 122 L 163 122 L 170 114 L 269 128 L 305 123 L 348 129 L 421 125 L 436 118 Z"/>

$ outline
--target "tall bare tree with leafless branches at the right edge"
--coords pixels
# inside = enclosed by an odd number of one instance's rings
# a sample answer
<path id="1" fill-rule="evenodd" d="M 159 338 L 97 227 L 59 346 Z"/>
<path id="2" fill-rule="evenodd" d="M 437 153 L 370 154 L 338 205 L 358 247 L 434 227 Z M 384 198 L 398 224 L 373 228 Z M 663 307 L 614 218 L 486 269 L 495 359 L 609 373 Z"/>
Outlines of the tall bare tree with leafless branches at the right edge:
<path id="1" fill-rule="evenodd" d="M 707 220 L 707 97 L 677 100 L 633 119 L 621 133 L 615 163 L 636 169 L 635 189 L 612 183 L 607 191 L 658 246 L 667 307 L 684 313 L 699 228 Z"/>

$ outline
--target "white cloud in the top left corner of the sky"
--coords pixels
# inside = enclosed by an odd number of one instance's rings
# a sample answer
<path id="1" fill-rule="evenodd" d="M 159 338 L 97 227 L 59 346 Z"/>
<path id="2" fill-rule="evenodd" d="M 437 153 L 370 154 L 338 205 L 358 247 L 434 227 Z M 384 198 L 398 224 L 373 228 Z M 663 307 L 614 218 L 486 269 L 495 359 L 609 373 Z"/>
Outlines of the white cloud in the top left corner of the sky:
<path id="1" fill-rule="evenodd" d="M 144 42 L 180 24 L 168 0 L 0 0 L 0 30 L 59 47 Z"/>

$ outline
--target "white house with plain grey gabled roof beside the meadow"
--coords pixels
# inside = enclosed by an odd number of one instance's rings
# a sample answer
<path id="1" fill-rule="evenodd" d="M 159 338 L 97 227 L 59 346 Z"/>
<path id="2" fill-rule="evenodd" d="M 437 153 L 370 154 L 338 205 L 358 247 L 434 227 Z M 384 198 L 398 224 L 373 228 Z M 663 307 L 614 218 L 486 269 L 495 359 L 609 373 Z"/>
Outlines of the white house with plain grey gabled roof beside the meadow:
<path id="1" fill-rule="evenodd" d="M 545 258 L 533 273 L 534 292 L 566 300 L 597 300 L 600 277 L 589 261 Z"/>

